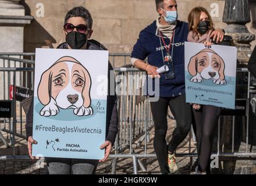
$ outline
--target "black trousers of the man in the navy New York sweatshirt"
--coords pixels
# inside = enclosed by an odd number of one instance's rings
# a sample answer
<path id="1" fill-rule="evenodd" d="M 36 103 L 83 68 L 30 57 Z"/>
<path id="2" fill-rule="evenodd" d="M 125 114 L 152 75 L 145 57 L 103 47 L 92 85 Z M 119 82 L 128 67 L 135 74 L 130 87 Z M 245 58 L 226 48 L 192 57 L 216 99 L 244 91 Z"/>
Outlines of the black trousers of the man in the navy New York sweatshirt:
<path id="1" fill-rule="evenodd" d="M 176 119 L 176 128 L 172 140 L 166 144 L 168 106 Z M 168 151 L 175 152 L 177 146 L 187 137 L 190 131 L 192 110 L 186 103 L 186 96 L 175 98 L 159 98 L 158 102 L 151 102 L 152 116 L 155 124 L 154 149 L 162 174 L 168 174 Z"/>

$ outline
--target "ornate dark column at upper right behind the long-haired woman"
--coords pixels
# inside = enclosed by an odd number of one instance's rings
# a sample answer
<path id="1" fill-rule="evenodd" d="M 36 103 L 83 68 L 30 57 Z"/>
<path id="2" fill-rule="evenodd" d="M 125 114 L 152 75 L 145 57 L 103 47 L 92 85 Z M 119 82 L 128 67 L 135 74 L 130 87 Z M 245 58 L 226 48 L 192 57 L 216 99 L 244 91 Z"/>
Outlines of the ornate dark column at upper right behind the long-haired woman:
<path id="1" fill-rule="evenodd" d="M 232 36 L 237 47 L 240 65 L 246 65 L 251 54 L 250 42 L 255 40 L 246 27 L 251 22 L 248 0 L 226 0 L 223 22 L 227 23 L 226 34 Z"/>

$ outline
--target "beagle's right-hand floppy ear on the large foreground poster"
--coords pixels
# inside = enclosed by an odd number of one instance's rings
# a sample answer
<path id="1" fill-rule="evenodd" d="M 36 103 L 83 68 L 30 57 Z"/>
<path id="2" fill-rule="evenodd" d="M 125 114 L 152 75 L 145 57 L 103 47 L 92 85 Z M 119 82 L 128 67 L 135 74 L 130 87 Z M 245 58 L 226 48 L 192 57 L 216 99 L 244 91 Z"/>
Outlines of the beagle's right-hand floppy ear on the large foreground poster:
<path id="1" fill-rule="evenodd" d="M 91 76 L 84 67 L 81 68 L 81 70 L 83 71 L 84 78 L 85 78 L 84 88 L 83 88 L 83 91 L 82 91 L 83 100 L 84 100 L 84 107 L 88 108 L 91 105 L 91 95 L 90 95 Z"/>

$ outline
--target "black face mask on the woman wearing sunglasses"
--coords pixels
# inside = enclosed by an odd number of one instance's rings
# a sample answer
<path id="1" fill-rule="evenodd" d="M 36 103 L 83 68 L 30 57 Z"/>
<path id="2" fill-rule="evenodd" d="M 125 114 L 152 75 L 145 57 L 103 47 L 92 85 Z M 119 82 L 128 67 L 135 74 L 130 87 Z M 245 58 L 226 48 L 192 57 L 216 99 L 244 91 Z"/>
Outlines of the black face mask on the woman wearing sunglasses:
<path id="1" fill-rule="evenodd" d="M 72 31 L 66 35 L 66 42 L 72 49 L 80 49 L 87 42 L 87 35 Z"/>

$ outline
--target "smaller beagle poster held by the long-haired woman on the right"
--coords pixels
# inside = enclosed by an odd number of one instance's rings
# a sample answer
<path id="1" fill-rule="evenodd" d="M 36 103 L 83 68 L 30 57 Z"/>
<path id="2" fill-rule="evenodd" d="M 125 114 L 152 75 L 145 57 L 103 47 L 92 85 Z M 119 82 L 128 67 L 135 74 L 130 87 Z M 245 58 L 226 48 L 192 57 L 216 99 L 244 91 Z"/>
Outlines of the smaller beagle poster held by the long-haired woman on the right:
<path id="1" fill-rule="evenodd" d="M 234 109 L 236 47 L 185 42 L 186 102 Z"/>

